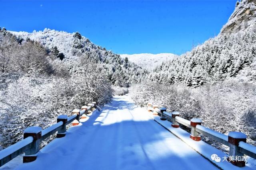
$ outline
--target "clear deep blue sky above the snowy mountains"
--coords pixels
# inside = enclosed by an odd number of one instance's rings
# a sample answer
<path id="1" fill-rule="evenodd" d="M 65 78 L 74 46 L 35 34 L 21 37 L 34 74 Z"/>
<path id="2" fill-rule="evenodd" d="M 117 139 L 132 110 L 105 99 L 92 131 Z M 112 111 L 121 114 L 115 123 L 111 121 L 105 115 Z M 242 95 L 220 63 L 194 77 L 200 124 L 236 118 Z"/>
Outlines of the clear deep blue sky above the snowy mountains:
<path id="1" fill-rule="evenodd" d="M 80 32 L 119 54 L 182 54 L 218 35 L 236 0 L 0 1 L 0 27 Z"/>

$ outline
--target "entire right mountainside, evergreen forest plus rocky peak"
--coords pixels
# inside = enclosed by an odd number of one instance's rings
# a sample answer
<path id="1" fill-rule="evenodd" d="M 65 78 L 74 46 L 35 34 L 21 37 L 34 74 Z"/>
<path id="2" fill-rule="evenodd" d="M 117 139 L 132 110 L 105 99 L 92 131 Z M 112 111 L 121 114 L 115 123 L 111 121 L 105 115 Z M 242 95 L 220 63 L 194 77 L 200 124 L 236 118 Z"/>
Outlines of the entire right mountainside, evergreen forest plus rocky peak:
<path id="1" fill-rule="evenodd" d="M 255 12 L 256 0 L 243 0 L 218 36 L 161 64 L 148 78 L 194 87 L 230 78 L 256 83 Z"/>

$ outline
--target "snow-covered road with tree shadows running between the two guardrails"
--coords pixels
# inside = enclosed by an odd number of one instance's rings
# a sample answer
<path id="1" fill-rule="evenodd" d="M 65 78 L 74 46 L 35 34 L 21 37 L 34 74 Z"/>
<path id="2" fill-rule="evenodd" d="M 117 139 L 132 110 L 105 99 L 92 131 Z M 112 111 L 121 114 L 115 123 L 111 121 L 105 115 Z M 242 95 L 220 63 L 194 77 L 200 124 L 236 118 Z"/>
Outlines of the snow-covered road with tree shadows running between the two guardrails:
<path id="1" fill-rule="evenodd" d="M 214 170 L 208 160 L 137 107 L 115 96 L 17 170 Z"/>

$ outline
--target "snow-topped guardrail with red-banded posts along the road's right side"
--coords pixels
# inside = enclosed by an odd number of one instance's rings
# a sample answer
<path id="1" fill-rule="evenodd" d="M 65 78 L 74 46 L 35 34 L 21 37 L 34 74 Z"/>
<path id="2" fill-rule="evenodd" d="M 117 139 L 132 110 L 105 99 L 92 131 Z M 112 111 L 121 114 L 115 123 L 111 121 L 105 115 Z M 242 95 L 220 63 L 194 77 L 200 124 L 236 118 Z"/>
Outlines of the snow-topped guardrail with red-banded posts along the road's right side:
<path id="1" fill-rule="evenodd" d="M 256 147 L 246 143 L 246 135 L 244 133 L 232 131 L 228 135 L 225 135 L 202 126 L 202 121 L 200 119 L 194 118 L 189 121 L 180 117 L 178 111 L 169 113 L 166 111 L 166 108 L 158 108 L 157 105 L 148 104 L 148 111 L 153 112 L 153 115 L 159 115 L 160 119 L 163 121 L 169 118 L 172 121 L 172 127 L 174 128 L 180 127 L 180 124 L 190 128 L 190 138 L 194 141 L 200 141 L 200 134 L 202 134 L 228 146 L 230 157 L 241 156 L 241 158 L 244 158 L 245 154 L 256 159 Z M 242 159 L 232 160 L 230 162 L 238 167 L 245 166 L 245 161 Z"/>

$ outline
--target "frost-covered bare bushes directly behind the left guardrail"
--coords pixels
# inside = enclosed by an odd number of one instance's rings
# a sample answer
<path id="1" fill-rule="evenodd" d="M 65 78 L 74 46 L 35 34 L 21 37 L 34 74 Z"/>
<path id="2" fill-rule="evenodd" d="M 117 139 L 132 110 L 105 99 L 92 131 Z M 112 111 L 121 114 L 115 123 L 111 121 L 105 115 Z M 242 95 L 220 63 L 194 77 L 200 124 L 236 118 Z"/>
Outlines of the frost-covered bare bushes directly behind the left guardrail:
<path id="1" fill-rule="evenodd" d="M 96 68 L 97 69 L 97 68 Z M 29 126 L 46 128 L 58 115 L 70 116 L 73 109 L 112 98 L 111 85 L 100 72 L 74 74 L 68 78 L 24 75 L 8 84 L 0 97 L 0 145 L 22 139 Z"/>

